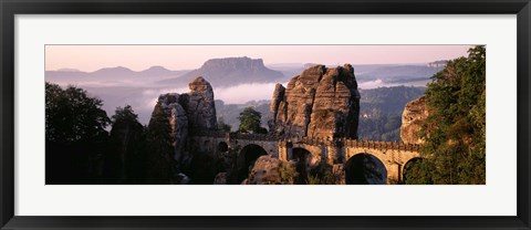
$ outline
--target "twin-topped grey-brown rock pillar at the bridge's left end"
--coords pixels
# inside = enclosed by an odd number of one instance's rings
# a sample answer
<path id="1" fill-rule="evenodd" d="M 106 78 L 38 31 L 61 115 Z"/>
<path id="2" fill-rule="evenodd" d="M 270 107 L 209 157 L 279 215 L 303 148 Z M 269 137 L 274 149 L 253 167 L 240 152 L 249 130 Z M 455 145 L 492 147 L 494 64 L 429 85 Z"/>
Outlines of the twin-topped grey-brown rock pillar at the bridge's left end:
<path id="1" fill-rule="evenodd" d="M 169 93 L 158 97 L 160 106 L 169 117 L 175 147 L 174 158 L 179 163 L 190 157 L 186 149 L 190 132 L 209 130 L 217 126 L 210 83 L 199 76 L 189 84 L 189 87 L 190 93 L 187 94 Z"/>

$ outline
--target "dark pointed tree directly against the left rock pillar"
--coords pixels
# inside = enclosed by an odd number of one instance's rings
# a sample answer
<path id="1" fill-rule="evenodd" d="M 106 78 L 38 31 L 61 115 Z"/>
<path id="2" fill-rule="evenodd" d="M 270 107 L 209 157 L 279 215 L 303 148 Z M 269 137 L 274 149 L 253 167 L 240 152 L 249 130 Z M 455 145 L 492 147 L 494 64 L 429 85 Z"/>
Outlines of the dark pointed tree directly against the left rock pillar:
<path id="1" fill-rule="evenodd" d="M 171 127 L 160 102 L 157 102 L 146 133 L 147 184 L 170 184 L 173 176 Z"/>

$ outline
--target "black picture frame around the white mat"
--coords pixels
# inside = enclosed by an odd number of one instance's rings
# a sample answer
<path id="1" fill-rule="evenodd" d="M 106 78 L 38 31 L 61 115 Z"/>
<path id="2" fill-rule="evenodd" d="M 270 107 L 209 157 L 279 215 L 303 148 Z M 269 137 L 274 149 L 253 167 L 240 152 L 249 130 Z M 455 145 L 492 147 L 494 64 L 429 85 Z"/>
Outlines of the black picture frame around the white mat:
<path id="1" fill-rule="evenodd" d="M 0 226 L 2 229 L 531 229 L 529 0 L 0 0 Z M 17 14 L 517 14 L 518 215 L 514 217 L 28 217 L 14 216 Z M 492 198 L 500 199 L 500 198 Z M 501 198 L 502 199 L 502 198 Z"/>

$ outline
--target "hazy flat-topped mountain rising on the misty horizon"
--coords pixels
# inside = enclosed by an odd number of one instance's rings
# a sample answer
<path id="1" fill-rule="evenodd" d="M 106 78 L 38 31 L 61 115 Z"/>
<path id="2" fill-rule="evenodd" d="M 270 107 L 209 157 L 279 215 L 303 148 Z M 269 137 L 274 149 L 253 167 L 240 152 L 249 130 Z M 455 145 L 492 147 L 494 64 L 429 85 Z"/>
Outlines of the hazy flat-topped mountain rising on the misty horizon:
<path id="1" fill-rule="evenodd" d="M 160 81 L 160 84 L 185 85 L 197 76 L 206 79 L 212 87 L 232 86 L 243 83 L 271 83 L 282 80 L 280 71 L 273 71 L 263 65 L 261 59 L 226 58 L 211 59 L 201 67 L 194 70 L 180 77 Z"/>

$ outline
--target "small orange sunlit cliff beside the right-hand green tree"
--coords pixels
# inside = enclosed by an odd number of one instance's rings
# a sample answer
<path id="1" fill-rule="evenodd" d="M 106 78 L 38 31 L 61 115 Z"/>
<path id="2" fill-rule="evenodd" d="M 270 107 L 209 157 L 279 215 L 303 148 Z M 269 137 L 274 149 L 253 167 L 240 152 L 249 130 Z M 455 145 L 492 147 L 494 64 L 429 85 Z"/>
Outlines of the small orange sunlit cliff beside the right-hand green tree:
<path id="1" fill-rule="evenodd" d="M 418 137 L 420 128 L 428 117 L 425 96 L 420 96 L 407 103 L 402 114 L 400 138 L 408 144 L 423 144 Z"/>

